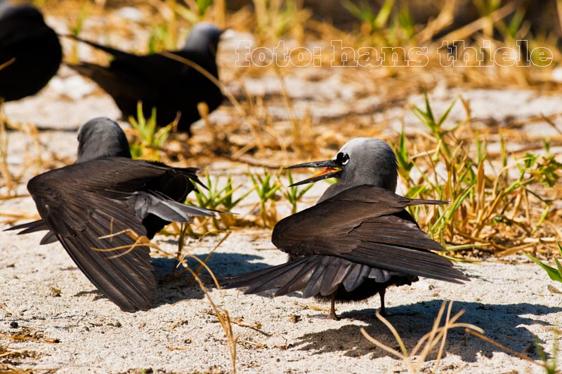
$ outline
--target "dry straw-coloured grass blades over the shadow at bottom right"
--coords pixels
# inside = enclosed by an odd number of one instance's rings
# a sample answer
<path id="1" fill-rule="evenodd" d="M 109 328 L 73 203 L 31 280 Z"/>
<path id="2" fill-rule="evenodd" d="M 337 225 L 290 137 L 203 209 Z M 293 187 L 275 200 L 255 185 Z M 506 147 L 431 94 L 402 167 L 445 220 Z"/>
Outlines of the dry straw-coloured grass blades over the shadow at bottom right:
<path id="1" fill-rule="evenodd" d="M 408 370 L 410 370 L 410 373 L 412 374 L 420 372 L 420 366 L 422 363 L 426 361 L 429 352 L 431 352 L 431 349 L 433 349 L 434 347 L 436 347 L 436 345 L 440 343 L 437 359 L 433 366 L 433 373 L 436 373 L 436 370 L 440 363 L 440 359 L 443 357 L 443 352 L 445 351 L 445 340 L 447 339 L 448 330 L 450 330 L 451 328 L 464 327 L 466 328 L 466 330 L 471 330 L 471 331 L 476 330 L 479 333 L 484 332 L 481 328 L 471 325 L 469 323 L 457 323 L 457 320 L 459 319 L 460 316 L 462 316 L 464 310 L 461 310 L 460 312 L 455 314 L 455 316 L 451 317 L 450 315 L 452 310 L 452 301 L 449 302 L 449 307 L 447 308 L 447 314 L 445 316 L 445 324 L 443 326 L 439 326 L 441 318 L 443 317 L 443 313 L 445 312 L 446 306 L 447 306 L 447 302 L 444 301 L 439 309 L 435 321 L 433 322 L 433 327 L 431 328 L 429 333 L 426 333 L 424 336 L 421 337 L 421 339 L 417 342 L 417 344 L 415 345 L 415 347 L 412 349 L 411 352 L 407 351 L 407 347 L 405 347 L 405 344 L 402 338 L 400 338 L 400 335 L 398 334 L 396 328 L 394 328 L 394 326 L 392 326 L 392 324 L 388 320 L 384 319 L 384 317 L 381 316 L 378 312 L 377 312 L 377 318 L 382 323 L 384 323 L 389 330 L 391 330 L 392 334 L 394 335 L 394 338 L 398 342 L 398 345 L 400 345 L 400 349 L 402 350 L 402 353 L 398 352 L 396 349 L 388 347 L 388 345 L 385 345 L 382 342 L 379 342 L 379 340 L 370 336 L 367 333 L 367 331 L 365 331 L 364 328 L 361 328 L 360 330 L 363 336 L 365 336 L 365 338 L 367 338 L 367 340 L 372 342 L 374 345 L 376 345 L 381 349 L 384 349 L 388 353 L 393 354 L 394 356 L 398 357 L 398 359 L 405 361 Z M 421 347 L 423 347 L 423 349 L 421 349 Z M 417 354 L 417 352 L 419 352 L 419 354 Z M 419 357 L 417 363 L 415 364 L 413 363 L 412 356 Z"/>

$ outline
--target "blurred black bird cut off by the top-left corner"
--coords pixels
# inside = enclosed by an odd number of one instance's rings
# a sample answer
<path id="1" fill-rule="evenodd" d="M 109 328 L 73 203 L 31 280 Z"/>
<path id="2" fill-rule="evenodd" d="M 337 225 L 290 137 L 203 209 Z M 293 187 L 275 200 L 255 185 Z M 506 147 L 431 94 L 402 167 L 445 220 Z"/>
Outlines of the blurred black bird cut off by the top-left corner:
<path id="1" fill-rule="evenodd" d="M 63 60 L 57 34 L 34 6 L 0 1 L 0 99 L 38 93 Z"/>

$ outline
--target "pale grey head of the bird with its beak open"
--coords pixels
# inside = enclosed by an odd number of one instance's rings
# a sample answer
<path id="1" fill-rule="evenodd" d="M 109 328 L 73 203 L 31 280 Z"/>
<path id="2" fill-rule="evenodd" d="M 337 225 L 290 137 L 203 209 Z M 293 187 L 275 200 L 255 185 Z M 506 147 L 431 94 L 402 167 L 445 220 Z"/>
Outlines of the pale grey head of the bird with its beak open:
<path id="1" fill-rule="evenodd" d="M 374 138 L 355 138 L 346 142 L 331 160 L 299 163 L 288 168 L 325 168 L 293 186 L 335 177 L 338 178 L 337 184 L 346 189 L 374 185 L 394 192 L 398 178 L 394 151 L 386 142 Z"/>

